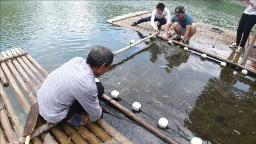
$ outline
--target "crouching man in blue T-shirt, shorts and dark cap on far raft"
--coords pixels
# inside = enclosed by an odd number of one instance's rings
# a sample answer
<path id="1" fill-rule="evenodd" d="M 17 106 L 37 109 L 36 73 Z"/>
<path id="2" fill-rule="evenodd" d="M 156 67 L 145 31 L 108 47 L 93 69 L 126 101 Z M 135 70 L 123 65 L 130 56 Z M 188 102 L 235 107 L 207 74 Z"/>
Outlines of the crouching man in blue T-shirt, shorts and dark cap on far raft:
<path id="1" fill-rule="evenodd" d="M 164 40 L 170 35 L 168 31 L 173 24 L 173 29 L 177 36 L 173 40 L 180 40 L 180 43 L 188 44 L 190 38 L 196 33 L 196 24 L 193 23 L 193 18 L 190 14 L 185 13 L 183 6 L 177 6 L 175 8 L 174 16 L 172 16 L 171 22 L 166 26 Z M 183 38 L 181 38 L 181 35 Z"/>

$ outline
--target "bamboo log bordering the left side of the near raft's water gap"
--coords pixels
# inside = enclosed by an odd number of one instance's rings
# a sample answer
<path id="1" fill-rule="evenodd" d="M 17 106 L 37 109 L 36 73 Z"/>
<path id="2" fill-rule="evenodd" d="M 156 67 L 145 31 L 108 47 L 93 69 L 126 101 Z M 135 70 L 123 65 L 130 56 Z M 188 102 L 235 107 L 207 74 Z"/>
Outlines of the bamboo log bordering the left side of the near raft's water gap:
<path id="1" fill-rule="evenodd" d="M 9 100 L 8 96 L 6 95 L 4 87 L 2 86 L 2 83 L 0 83 L 0 93 L 1 93 L 1 99 L 4 102 L 4 105 L 6 106 L 6 110 L 7 110 L 8 114 L 10 115 L 10 118 L 11 118 L 14 126 L 17 128 L 18 136 L 20 137 L 20 136 L 22 136 L 22 133 L 23 133 L 23 127 L 21 126 L 20 121 L 19 121 L 14 109 L 12 108 L 10 100 Z"/>

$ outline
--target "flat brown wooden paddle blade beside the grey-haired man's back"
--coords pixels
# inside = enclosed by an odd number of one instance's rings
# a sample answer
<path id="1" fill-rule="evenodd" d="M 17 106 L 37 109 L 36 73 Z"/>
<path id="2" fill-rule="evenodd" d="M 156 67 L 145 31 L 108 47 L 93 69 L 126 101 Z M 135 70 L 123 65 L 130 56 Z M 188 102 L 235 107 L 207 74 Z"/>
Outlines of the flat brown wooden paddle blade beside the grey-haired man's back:
<path id="1" fill-rule="evenodd" d="M 38 113 L 39 113 L 39 106 L 38 106 L 38 103 L 35 103 L 31 106 L 31 108 L 29 110 L 26 124 L 24 127 L 24 132 L 23 132 L 22 136 L 25 137 L 25 136 L 32 134 L 32 132 L 34 131 L 34 128 L 36 126 L 36 120 L 38 117 Z"/>

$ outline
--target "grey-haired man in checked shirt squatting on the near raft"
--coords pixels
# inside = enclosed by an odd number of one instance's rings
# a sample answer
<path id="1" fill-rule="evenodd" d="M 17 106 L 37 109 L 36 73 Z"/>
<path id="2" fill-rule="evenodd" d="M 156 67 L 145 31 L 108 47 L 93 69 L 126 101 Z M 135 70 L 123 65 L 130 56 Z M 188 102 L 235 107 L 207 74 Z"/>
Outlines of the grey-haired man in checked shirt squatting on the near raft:
<path id="1" fill-rule="evenodd" d="M 37 93 L 40 115 L 48 122 L 66 122 L 83 126 L 86 113 L 91 121 L 102 115 L 99 99 L 104 93 L 94 76 L 104 74 L 113 62 L 112 52 L 103 46 L 94 47 L 87 60 L 72 58 L 51 72 Z"/>

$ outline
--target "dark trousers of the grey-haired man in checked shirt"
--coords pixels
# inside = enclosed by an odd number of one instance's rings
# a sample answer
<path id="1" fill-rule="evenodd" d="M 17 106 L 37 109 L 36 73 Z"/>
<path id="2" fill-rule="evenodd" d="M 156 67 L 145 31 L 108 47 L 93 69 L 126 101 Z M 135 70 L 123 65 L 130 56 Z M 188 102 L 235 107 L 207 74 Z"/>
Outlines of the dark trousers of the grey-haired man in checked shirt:
<path id="1" fill-rule="evenodd" d="M 104 93 L 104 87 L 100 82 L 96 82 L 97 90 L 98 90 L 98 99 L 101 100 L 102 95 Z M 81 104 L 76 100 L 69 108 L 68 114 L 66 118 L 64 118 L 60 123 L 67 122 L 74 114 L 77 113 L 85 113 L 87 115 L 87 112 L 84 110 L 84 108 L 81 106 Z"/>

